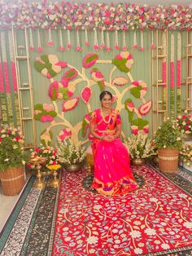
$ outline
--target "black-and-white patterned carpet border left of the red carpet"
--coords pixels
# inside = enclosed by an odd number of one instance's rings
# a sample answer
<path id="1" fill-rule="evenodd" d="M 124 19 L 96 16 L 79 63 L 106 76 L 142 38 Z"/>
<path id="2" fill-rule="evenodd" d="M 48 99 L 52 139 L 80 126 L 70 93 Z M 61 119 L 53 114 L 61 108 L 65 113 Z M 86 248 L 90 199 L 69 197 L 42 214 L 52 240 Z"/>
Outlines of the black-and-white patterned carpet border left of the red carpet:
<path id="1" fill-rule="evenodd" d="M 46 182 L 49 179 L 46 177 Z M 31 180 L 34 182 L 35 177 L 32 176 Z M 45 189 L 37 190 L 32 187 L 33 182 L 27 184 L 3 227 L 0 236 L 1 256 L 46 256 L 52 251 L 59 189 L 46 185 Z M 26 204 L 30 201 L 36 203 Z"/>

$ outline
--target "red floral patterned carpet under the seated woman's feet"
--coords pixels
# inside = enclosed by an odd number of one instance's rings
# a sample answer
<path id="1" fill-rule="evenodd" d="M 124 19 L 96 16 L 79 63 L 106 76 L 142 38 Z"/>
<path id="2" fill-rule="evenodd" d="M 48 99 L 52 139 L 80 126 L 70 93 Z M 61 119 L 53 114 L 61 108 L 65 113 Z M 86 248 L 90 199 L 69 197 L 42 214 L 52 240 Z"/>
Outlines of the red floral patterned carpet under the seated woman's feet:
<path id="1" fill-rule="evenodd" d="M 84 170 L 63 173 L 53 255 L 158 255 L 191 248 L 191 197 L 151 166 L 133 167 L 133 173 L 140 188 L 114 197 L 89 191 Z"/>

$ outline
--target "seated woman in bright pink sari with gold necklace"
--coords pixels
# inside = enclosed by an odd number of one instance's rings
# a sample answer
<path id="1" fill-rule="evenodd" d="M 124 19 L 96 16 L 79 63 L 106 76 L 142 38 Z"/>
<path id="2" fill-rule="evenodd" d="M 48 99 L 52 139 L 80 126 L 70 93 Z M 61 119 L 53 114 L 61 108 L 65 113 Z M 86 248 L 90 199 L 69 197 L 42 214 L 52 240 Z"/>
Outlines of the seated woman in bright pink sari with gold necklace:
<path id="1" fill-rule="evenodd" d="M 120 113 L 111 109 L 112 95 L 104 90 L 99 99 L 102 108 L 92 113 L 89 125 L 94 153 L 94 181 L 91 187 L 104 195 L 122 196 L 138 188 L 138 185 L 130 170 L 127 149 L 120 140 Z"/>

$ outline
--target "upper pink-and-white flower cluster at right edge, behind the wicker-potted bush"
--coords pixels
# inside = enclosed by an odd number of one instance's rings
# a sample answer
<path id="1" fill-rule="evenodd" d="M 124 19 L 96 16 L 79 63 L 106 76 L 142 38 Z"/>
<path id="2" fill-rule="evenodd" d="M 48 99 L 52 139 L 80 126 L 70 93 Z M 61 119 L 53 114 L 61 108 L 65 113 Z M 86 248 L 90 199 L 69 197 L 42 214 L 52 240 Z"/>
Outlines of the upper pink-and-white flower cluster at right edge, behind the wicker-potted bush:
<path id="1" fill-rule="evenodd" d="M 185 110 L 184 115 L 180 115 L 176 119 L 177 126 L 181 131 L 181 135 L 185 139 L 191 138 L 192 135 L 192 115 Z"/>

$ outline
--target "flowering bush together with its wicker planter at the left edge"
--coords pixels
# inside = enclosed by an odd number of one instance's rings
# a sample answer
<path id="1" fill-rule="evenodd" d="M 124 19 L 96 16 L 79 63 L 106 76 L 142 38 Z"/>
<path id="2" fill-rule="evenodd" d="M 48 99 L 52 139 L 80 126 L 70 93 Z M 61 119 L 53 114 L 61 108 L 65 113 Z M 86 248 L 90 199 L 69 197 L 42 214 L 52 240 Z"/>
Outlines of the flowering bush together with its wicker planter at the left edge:
<path id="1" fill-rule="evenodd" d="M 14 196 L 24 187 L 24 136 L 15 128 L 0 130 L 0 179 L 5 196 Z"/>

